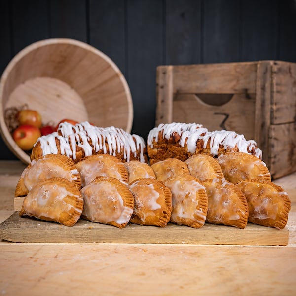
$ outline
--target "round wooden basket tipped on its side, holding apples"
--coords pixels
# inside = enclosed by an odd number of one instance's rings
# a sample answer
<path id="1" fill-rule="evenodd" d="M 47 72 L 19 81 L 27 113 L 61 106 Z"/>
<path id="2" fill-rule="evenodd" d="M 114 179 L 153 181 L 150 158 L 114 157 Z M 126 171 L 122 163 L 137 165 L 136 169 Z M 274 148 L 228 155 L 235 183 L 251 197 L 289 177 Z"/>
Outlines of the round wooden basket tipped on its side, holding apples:
<path id="1" fill-rule="evenodd" d="M 128 84 L 101 51 L 73 39 L 47 39 L 29 45 L 8 64 L 0 81 L 0 131 L 23 162 L 29 155 L 13 141 L 4 118 L 9 107 L 27 104 L 42 122 L 70 118 L 131 131 L 133 104 Z"/>

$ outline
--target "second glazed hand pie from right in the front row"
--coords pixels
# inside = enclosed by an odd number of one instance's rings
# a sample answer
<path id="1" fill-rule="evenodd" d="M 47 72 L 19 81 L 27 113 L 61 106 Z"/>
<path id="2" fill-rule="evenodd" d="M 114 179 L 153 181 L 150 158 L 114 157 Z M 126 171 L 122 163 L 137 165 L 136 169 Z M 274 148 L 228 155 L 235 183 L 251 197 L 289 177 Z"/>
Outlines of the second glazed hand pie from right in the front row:
<path id="1" fill-rule="evenodd" d="M 202 185 L 206 188 L 209 200 L 207 222 L 244 229 L 249 211 L 242 191 L 231 182 L 218 178 L 206 180 Z"/>

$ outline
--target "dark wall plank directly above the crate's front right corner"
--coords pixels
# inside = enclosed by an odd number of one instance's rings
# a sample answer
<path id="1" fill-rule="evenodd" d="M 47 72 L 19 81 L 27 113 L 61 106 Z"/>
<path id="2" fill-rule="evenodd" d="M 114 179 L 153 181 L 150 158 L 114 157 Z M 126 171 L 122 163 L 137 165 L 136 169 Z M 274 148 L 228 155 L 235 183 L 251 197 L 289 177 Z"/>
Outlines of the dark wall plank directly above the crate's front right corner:
<path id="1" fill-rule="evenodd" d="M 241 60 L 276 60 L 278 0 L 248 0 L 241 3 Z"/>

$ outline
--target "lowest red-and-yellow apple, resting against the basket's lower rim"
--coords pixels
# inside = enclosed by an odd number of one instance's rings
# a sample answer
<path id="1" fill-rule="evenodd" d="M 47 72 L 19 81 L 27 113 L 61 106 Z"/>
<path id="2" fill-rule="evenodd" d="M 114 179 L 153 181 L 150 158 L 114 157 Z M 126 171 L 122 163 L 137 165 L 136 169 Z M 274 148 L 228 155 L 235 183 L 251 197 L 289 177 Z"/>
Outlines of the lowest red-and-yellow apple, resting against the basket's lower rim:
<path id="1" fill-rule="evenodd" d="M 12 137 L 21 149 L 31 150 L 37 139 L 41 137 L 41 132 L 36 126 L 25 124 L 17 127 Z"/>

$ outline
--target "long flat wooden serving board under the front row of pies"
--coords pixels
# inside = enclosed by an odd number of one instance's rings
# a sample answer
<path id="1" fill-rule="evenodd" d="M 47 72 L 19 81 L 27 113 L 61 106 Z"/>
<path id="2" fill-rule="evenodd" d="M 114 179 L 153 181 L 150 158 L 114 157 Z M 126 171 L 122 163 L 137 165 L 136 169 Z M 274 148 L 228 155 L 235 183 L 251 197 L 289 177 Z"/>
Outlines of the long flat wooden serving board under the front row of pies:
<path id="1" fill-rule="evenodd" d="M 0 224 L 0 238 L 26 243 L 151 243 L 214 245 L 282 245 L 288 244 L 289 231 L 284 228 L 248 223 L 245 229 L 206 223 L 199 229 L 168 224 L 164 228 L 128 224 L 119 229 L 80 219 L 67 227 L 31 217 L 20 218 L 15 212 Z"/>

